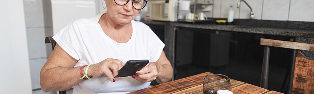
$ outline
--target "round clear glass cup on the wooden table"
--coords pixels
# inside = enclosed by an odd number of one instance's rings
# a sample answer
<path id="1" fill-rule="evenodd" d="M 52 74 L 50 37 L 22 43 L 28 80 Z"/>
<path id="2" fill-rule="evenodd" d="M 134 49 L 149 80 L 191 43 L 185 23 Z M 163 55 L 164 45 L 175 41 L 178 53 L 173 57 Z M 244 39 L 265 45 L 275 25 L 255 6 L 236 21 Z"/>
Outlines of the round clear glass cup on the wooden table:
<path id="1" fill-rule="evenodd" d="M 230 79 L 228 76 L 221 74 L 208 74 L 204 78 L 203 93 L 217 94 L 218 90 L 231 89 Z"/>

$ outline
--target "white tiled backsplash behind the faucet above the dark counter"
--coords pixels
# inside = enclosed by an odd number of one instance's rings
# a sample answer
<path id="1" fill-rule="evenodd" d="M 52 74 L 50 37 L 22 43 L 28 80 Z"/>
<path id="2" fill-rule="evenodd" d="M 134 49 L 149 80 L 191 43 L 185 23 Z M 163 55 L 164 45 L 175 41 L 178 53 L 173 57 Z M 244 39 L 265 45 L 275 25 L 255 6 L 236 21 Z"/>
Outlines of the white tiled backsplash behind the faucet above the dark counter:
<path id="1" fill-rule="evenodd" d="M 191 0 L 194 1 L 194 0 Z M 205 0 L 208 1 L 208 0 Z M 211 2 L 211 0 L 209 0 Z M 249 19 L 250 9 L 239 0 L 214 0 L 214 18 L 227 18 L 230 5 L 235 19 Z M 245 0 L 258 20 L 306 21 L 314 22 L 314 0 Z M 204 0 L 198 0 L 198 3 Z M 240 13 L 240 15 L 239 15 Z M 205 13 L 211 17 L 211 12 Z"/>

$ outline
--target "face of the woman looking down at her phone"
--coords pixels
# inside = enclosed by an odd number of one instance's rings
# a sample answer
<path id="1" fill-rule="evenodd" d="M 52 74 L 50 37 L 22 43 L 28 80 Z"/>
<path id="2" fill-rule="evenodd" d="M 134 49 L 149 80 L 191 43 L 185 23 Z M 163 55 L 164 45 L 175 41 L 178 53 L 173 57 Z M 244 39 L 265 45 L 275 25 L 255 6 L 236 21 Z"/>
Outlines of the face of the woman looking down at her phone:
<path id="1" fill-rule="evenodd" d="M 133 20 L 140 10 L 133 8 L 132 1 L 130 0 L 125 5 L 118 5 L 114 0 L 106 0 L 107 15 L 114 20 L 117 24 L 123 25 Z"/>

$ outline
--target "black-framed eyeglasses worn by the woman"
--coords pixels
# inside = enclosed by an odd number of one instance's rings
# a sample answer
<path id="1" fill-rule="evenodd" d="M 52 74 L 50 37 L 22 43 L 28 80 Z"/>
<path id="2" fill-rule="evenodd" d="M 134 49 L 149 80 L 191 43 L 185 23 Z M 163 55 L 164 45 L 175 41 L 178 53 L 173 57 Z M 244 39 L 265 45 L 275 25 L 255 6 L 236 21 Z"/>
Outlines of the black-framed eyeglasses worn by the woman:
<path id="1" fill-rule="evenodd" d="M 129 2 L 130 0 L 115 0 L 115 3 L 118 5 L 125 5 Z M 135 9 L 143 9 L 146 6 L 147 0 L 132 0 L 132 5 Z"/>

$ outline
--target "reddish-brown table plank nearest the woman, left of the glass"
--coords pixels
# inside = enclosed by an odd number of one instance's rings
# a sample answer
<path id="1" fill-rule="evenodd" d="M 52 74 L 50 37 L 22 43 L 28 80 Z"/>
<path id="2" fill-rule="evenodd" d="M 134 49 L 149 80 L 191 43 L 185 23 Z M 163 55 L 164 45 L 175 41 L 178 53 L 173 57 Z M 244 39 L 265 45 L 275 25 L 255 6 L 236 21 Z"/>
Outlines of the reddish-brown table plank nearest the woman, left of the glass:
<path id="1" fill-rule="evenodd" d="M 156 86 L 144 88 L 138 91 L 133 91 L 127 94 L 169 94 L 203 84 L 204 77 L 207 74 L 212 73 L 205 72 L 198 75 L 189 76 L 175 81 L 170 81 Z"/>

